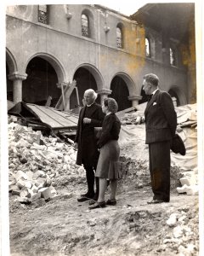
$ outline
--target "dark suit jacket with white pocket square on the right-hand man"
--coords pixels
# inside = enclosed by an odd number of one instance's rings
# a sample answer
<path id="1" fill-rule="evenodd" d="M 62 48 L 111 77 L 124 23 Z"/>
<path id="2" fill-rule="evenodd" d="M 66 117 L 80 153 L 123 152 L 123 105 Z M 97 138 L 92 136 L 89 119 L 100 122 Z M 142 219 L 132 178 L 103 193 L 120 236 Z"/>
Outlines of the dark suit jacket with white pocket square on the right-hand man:
<path id="1" fill-rule="evenodd" d="M 171 140 L 177 127 L 177 114 L 171 96 L 163 90 L 156 93 L 144 111 L 146 144 Z"/>

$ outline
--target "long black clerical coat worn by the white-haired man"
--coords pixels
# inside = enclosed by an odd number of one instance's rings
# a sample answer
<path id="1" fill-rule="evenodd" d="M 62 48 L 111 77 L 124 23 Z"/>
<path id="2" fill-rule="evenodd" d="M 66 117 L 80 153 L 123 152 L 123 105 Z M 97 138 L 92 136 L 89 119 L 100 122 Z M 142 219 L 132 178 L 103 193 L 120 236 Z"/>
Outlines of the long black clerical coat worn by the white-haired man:
<path id="1" fill-rule="evenodd" d="M 83 118 L 86 108 L 89 108 L 89 115 L 91 119 L 90 124 L 83 124 Z M 97 138 L 94 134 L 94 127 L 101 127 L 105 114 L 99 104 L 94 102 L 91 107 L 83 107 L 79 113 L 77 134 L 75 143 L 78 143 L 77 150 L 77 165 L 82 164 L 95 165 L 99 159 L 99 151 L 97 148 Z"/>

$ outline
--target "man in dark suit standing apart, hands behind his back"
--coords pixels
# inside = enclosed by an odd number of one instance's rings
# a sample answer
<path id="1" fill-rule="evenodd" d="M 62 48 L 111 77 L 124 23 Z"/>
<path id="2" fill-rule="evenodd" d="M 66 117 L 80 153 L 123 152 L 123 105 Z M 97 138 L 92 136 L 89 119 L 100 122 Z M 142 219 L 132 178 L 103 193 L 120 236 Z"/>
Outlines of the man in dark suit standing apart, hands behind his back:
<path id="1" fill-rule="evenodd" d="M 151 96 L 144 111 L 146 140 L 149 144 L 150 179 L 153 200 L 170 201 L 170 145 L 177 127 L 177 115 L 171 96 L 158 88 L 156 74 L 144 75 L 143 90 Z"/>

